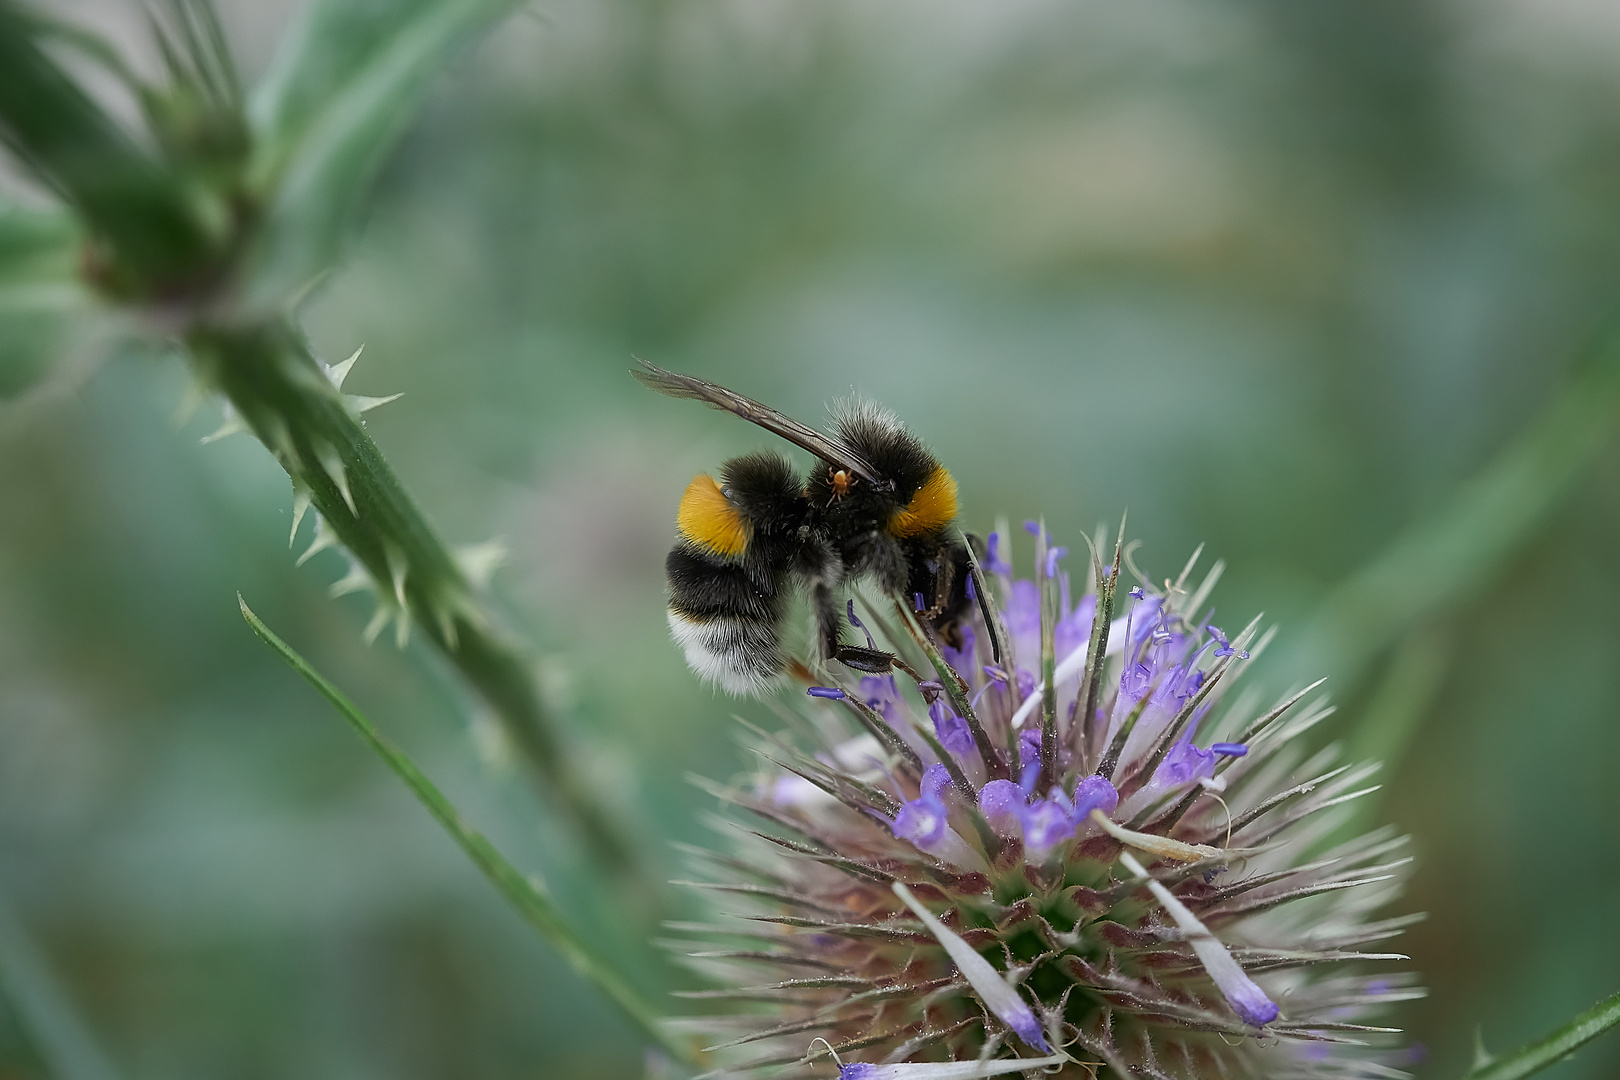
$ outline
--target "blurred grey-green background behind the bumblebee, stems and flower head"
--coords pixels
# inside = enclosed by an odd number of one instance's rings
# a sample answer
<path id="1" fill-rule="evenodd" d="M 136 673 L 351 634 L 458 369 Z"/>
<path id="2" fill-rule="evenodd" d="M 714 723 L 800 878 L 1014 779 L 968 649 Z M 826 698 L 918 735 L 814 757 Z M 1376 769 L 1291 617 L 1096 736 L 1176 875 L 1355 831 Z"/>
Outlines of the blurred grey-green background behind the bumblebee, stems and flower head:
<path id="1" fill-rule="evenodd" d="M 133 6 L 60 8 L 151 58 Z M 249 83 L 295 11 L 222 3 Z M 752 767 L 729 717 L 770 714 L 687 674 L 661 559 L 685 481 L 768 440 L 632 356 L 810 421 L 859 390 L 970 528 L 1045 515 L 1072 544 L 1129 510 L 1139 565 L 1207 542 L 1221 622 L 1298 641 L 1615 329 L 1617 102 L 1602 0 L 531 3 L 444 73 L 306 325 L 327 361 L 364 343 L 347 389 L 405 393 L 368 426 L 447 539 L 505 539 L 496 594 L 580 767 L 680 876 L 671 840 L 713 810 L 685 774 Z M 603 915 L 491 721 L 420 644 L 361 644 L 368 601 L 326 597 L 342 559 L 293 565 L 285 474 L 199 445 L 217 406 L 177 421 L 186 368 L 128 340 L 78 321 L 0 408 L 0 934 L 26 928 L 109 1077 L 642 1075 L 235 593 L 661 993 L 656 929 Z M 1332 733 L 1418 725 L 1379 810 L 1430 913 L 1398 946 L 1432 989 L 1403 1017 L 1422 1075 L 1620 986 L 1601 442 L 1371 662 L 1254 674 L 1336 675 Z M 0 1004 L 0 1077 L 39 1075 Z M 1620 1040 L 1544 1075 L 1620 1075 Z"/>

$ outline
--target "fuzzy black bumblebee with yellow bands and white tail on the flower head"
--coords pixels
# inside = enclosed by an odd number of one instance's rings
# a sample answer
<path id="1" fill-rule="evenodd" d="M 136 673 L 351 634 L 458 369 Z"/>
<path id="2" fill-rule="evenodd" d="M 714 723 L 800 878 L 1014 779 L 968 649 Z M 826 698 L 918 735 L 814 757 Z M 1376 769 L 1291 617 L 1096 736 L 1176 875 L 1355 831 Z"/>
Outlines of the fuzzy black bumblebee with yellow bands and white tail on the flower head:
<path id="1" fill-rule="evenodd" d="M 810 594 L 818 664 L 888 672 L 894 656 L 842 640 L 838 596 L 860 580 L 961 646 L 961 622 L 974 599 L 983 609 L 985 589 L 977 552 L 953 528 L 956 479 L 893 413 L 854 403 L 820 432 L 646 361 L 632 374 L 659 393 L 735 413 L 816 458 L 800 478 L 779 453 L 748 453 L 726 461 L 719 481 L 705 473 L 687 484 L 664 570 L 669 630 L 701 678 L 734 695 L 770 688 L 787 669 L 782 622 L 797 589 Z M 985 625 L 993 627 L 988 610 Z M 1000 657 L 993 628 L 990 641 Z"/>

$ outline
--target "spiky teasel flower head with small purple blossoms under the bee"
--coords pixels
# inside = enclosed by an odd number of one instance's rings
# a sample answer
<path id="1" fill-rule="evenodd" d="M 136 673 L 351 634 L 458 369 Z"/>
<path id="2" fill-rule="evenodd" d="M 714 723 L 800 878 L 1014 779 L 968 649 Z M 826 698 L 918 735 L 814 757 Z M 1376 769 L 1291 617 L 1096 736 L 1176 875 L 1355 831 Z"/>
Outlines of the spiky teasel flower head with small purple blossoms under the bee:
<path id="1" fill-rule="evenodd" d="M 1406 840 L 1345 839 L 1377 766 L 1306 750 L 1320 682 L 1234 691 L 1272 635 L 1212 623 L 1220 563 L 1119 588 L 1116 541 L 1072 589 L 1029 531 L 1027 578 L 1004 526 L 980 549 L 995 625 L 850 602 L 896 670 L 800 669 L 786 729 L 745 724 L 758 772 L 711 789 L 747 814 L 692 852 L 716 918 L 671 925 L 713 1075 L 1405 1075 Z"/>

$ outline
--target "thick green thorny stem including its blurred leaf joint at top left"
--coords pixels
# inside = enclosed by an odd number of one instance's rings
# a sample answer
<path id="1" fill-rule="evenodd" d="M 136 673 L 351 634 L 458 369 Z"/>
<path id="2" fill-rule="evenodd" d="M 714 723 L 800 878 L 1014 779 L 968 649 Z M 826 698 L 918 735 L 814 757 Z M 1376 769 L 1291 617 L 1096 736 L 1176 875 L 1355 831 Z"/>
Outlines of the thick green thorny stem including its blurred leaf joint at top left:
<path id="1" fill-rule="evenodd" d="M 198 2 L 193 15 L 212 19 Z M 147 108 L 151 139 L 130 138 L 40 45 L 44 24 L 0 0 L 0 136 L 86 225 L 84 275 L 109 300 L 141 306 L 188 345 L 219 389 L 308 495 L 327 528 L 394 604 L 415 620 L 501 717 L 546 792 L 616 870 L 632 848 L 565 759 L 520 649 L 473 594 L 455 559 L 394 476 L 360 419 L 288 321 L 225 313 L 243 288 L 245 256 L 262 240 L 264 193 L 245 173 L 251 133 L 240 97 L 199 73 L 228 74 L 222 39 L 170 65 L 151 100 L 177 96 L 224 133 L 219 146 Z M 217 31 L 217 28 L 215 28 Z M 159 34 L 160 37 L 160 34 Z M 233 74 L 225 79 L 233 81 Z"/>

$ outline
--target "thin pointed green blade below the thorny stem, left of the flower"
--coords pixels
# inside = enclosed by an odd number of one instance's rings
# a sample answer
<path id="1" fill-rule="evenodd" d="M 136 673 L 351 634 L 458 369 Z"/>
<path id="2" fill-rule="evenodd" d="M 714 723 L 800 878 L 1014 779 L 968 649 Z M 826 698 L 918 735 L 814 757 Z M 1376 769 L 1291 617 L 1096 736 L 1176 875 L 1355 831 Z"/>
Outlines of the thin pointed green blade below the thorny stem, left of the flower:
<path id="1" fill-rule="evenodd" d="M 671 1051 L 680 1061 L 692 1061 L 690 1048 L 663 1030 L 659 1012 L 648 1002 L 635 986 L 612 968 L 603 957 L 586 944 L 578 933 L 569 926 L 562 913 L 551 899 L 541 892 L 535 882 L 520 874 L 496 847 L 478 831 L 470 827 L 449 798 L 429 780 L 405 753 L 389 742 L 376 725 L 352 703 L 343 691 L 334 687 L 321 672 L 309 665 L 292 646 L 275 636 L 248 602 L 237 594 L 241 606 L 241 617 L 248 620 L 253 633 L 269 644 L 287 664 L 305 677 L 305 680 L 326 698 L 339 716 L 371 746 L 373 751 L 405 782 L 405 787 L 421 800 L 428 813 L 444 826 L 446 832 L 483 871 L 484 878 L 501 892 L 507 902 L 517 908 L 518 915 L 530 926 L 551 942 L 569 965 L 586 981 L 601 989 L 624 1014 L 648 1035 L 654 1043 Z"/>

